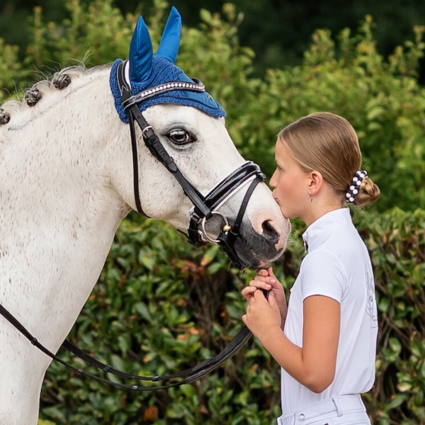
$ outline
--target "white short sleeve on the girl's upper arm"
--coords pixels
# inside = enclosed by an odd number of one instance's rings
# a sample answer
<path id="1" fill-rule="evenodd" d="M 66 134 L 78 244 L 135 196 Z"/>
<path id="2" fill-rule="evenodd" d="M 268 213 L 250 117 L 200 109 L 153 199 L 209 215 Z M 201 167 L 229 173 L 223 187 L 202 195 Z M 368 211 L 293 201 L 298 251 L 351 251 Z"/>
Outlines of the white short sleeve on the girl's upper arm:
<path id="1" fill-rule="evenodd" d="M 318 249 L 302 260 L 300 283 L 302 300 L 312 295 L 323 295 L 341 303 L 347 288 L 347 273 L 338 256 Z"/>

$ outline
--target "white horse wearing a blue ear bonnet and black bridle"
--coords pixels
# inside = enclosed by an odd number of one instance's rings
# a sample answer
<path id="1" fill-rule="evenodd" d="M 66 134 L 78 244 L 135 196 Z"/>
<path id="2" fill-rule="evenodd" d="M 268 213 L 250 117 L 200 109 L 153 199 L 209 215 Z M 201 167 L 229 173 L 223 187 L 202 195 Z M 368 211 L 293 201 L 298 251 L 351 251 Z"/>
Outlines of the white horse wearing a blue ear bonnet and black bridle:
<path id="1" fill-rule="evenodd" d="M 140 17 L 127 61 L 62 69 L 0 108 L 0 305 L 53 353 L 131 210 L 222 244 L 242 267 L 285 249 L 290 225 L 259 167 L 174 64 L 180 35 L 172 8 L 153 54 Z M 0 315 L 0 359 L 0 424 L 35 425 L 51 358 Z"/>

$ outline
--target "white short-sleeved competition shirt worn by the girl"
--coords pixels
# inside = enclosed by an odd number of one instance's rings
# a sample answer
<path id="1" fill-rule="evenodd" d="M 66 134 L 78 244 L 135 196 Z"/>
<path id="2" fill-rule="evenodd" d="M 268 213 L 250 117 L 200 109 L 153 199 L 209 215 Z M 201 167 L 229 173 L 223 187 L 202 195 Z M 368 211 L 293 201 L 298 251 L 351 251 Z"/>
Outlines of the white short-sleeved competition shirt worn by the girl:
<path id="1" fill-rule="evenodd" d="M 290 290 L 285 335 L 302 347 L 303 301 L 324 295 L 341 305 L 341 327 L 334 381 L 316 394 L 281 370 L 283 414 L 334 395 L 368 392 L 375 381 L 378 313 L 368 250 L 351 220 L 350 210 L 328 212 L 302 234 L 308 252 Z"/>

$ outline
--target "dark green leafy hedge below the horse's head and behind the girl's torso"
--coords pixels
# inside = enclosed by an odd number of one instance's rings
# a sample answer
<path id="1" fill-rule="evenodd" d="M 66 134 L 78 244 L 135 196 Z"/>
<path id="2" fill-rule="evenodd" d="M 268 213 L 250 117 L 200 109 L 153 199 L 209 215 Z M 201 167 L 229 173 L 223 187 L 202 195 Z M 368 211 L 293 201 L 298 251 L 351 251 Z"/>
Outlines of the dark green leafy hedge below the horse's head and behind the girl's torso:
<path id="1" fill-rule="evenodd" d="M 375 424 L 425 422 L 425 212 L 356 212 L 375 268 L 380 313 L 377 380 L 365 396 Z M 276 273 L 288 289 L 303 256 L 295 223 Z M 251 272 L 215 246 L 195 249 L 168 225 L 125 220 L 70 338 L 128 373 L 162 375 L 220 351 L 242 325 Z M 69 360 L 66 353 L 61 353 Z M 94 372 L 80 361 L 74 364 Z M 270 424 L 279 414 L 278 365 L 251 339 L 191 385 L 126 392 L 52 363 L 41 417 L 55 424 Z M 132 382 L 130 382 L 132 383 Z"/>

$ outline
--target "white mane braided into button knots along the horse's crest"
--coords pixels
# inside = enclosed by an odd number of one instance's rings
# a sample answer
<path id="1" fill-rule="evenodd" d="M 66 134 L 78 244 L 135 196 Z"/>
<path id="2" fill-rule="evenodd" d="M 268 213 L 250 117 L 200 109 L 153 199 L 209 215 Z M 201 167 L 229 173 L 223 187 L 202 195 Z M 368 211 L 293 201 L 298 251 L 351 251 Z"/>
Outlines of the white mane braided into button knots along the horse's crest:
<path id="1" fill-rule="evenodd" d="M 0 129 L 1 125 L 9 123 L 11 120 L 13 120 L 13 128 L 26 125 L 33 115 L 40 113 L 40 110 L 46 111 L 60 101 L 60 97 L 64 98 L 71 91 L 79 89 L 91 81 L 91 79 L 82 77 L 110 66 L 109 64 L 92 68 L 86 68 L 84 65 L 67 67 L 53 74 L 51 79 L 36 82 L 24 93 L 20 101 L 6 101 L 0 106 Z"/>

